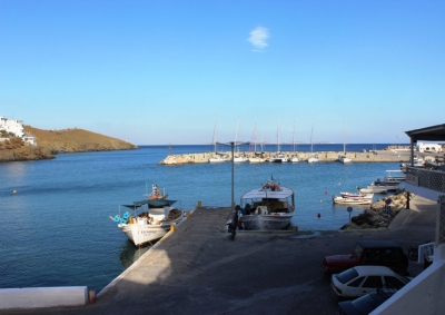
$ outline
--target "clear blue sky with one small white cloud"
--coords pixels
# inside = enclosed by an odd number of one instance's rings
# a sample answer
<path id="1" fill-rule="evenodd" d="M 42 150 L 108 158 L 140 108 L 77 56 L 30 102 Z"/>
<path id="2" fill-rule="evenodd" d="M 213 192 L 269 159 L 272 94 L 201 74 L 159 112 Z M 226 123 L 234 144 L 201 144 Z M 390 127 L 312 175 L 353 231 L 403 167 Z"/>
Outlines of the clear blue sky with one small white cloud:
<path id="1" fill-rule="evenodd" d="M 408 144 L 443 0 L 0 0 L 0 116 L 135 145 Z"/>

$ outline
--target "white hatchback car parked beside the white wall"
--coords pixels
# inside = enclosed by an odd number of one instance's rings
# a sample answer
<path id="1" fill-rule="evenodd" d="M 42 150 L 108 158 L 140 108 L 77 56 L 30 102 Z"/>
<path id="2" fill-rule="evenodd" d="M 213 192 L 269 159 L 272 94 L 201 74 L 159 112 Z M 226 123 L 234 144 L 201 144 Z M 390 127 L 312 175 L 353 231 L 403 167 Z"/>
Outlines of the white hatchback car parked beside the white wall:
<path id="1" fill-rule="evenodd" d="M 399 289 L 411 278 L 385 266 L 356 266 L 332 277 L 332 293 L 337 298 L 357 297 L 377 288 Z"/>

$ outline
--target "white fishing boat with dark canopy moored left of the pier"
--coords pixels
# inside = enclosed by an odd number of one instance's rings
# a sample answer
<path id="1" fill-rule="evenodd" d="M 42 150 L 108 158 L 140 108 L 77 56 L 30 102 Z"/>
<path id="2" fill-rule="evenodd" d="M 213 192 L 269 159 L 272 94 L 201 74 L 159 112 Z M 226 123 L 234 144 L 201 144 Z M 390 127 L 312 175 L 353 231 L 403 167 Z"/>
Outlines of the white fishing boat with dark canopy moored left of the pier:
<path id="1" fill-rule="evenodd" d="M 184 219 L 182 211 L 171 206 L 176 200 L 168 199 L 168 195 L 161 193 L 158 185 L 151 188 L 146 200 L 121 205 L 130 210 L 121 214 L 119 206 L 119 214 L 110 216 L 135 246 L 152 244 Z"/>

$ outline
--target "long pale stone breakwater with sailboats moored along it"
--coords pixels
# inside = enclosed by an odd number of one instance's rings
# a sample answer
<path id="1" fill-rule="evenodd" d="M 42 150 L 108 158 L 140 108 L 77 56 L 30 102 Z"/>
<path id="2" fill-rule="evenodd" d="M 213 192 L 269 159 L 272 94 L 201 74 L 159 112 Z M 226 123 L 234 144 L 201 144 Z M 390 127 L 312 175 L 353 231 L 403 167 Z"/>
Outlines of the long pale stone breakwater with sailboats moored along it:
<path id="1" fill-rule="evenodd" d="M 245 156 L 247 158 L 253 157 L 261 157 L 263 161 L 268 161 L 268 158 L 275 152 L 266 151 L 266 152 L 255 152 L 255 151 L 236 151 L 235 157 Z M 327 161 L 337 161 L 339 163 L 339 157 L 344 155 L 343 151 L 317 151 L 317 152 L 307 152 L 307 151 L 281 151 L 286 157 L 290 158 L 291 156 L 297 156 L 299 163 L 305 163 L 312 155 L 318 156 L 318 161 L 327 163 Z M 168 155 L 165 159 L 159 161 L 160 165 L 184 165 L 184 164 L 202 164 L 209 163 L 210 158 L 215 158 L 216 156 L 226 155 L 228 157 L 227 161 L 231 160 L 231 151 L 221 151 L 221 152 L 192 152 L 192 154 L 181 154 L 181 155 Z M 370 150 L 370 151 L 350 151 L 346 152 L 346 156 L 352 159 L 352 163 L 387 163 L 387 161 L 399 161 L 407 163 L 409 161 L 409 151 L 408 150 Z"/>

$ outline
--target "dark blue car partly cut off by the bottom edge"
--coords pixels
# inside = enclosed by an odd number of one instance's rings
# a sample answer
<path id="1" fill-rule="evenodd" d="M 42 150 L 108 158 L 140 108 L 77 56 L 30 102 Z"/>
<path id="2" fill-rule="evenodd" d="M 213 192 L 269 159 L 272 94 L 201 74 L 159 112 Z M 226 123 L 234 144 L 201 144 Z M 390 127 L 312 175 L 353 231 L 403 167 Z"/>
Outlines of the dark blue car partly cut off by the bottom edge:
<path id="1" fill-rule="evenodd" d="M 392 297 L 396 291 L 377 289 L 360 296 L 354 301 L 343 301 L 338 303 L 338 315 L 368 315 L 385 301 Z"/>

